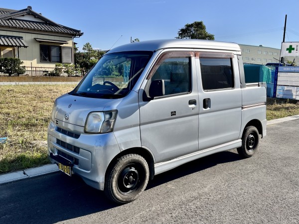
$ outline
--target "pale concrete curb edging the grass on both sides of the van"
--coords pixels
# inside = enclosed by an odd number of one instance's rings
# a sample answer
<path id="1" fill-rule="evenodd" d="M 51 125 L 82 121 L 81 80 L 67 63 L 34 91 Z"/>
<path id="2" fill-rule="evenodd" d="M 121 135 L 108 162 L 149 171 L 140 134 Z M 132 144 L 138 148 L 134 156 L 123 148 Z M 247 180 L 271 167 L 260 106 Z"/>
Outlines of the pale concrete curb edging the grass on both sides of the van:
<path id="1" fill-rule="evenodd" d="M 274 119 L 274 120 L 268 120 L 267 126 L 290 121 L 290 120 L 296 120 L 296 119 L 299 119 L 299 115 L 288 116 L 288 117 L 283 117 L 283 118 Z M 37 177 L 37 176 L 41 176 L 41 175 L 45 175 L 45 174 L 55 173 L 58 171 L 59 171 L 59 169 L 56 164 L 47 164 L 44 166 L 30 168 L 30 169 L 23 170 L 23 171 L 2 174 L 2 175 L 0 175 L 0 185 L 27 179 L 27 178 L 31 178 L 31 177 Z"/>

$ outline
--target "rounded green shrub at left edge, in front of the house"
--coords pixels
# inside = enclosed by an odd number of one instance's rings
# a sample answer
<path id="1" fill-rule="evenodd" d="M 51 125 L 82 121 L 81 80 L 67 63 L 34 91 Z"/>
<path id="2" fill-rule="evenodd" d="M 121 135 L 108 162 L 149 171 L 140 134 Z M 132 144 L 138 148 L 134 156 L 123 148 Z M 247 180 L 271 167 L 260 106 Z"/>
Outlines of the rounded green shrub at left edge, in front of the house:
<path id="1" fill-rule="evenodd" d="M 19 58 L 0 58 L 0 73 L 22 75 L 25 73 L 25 66 L 21 66 L 23 63 Z"/>

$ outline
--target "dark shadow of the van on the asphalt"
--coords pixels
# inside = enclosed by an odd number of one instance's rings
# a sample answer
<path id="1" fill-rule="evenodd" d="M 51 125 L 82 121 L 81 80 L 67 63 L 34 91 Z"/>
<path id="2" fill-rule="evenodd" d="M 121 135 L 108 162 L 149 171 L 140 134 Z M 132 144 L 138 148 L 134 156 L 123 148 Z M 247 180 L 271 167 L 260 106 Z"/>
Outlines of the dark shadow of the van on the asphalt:
<path id="1" fill-rule="evenodd" d="M 239 159 L 234 151 L 197 159 L 155 176 L 147 189 Z M 0 192 L 2 224 L 50 224 L 117 207 L 106 199 L 103 192 L 87 186 L 81 178 L 70 178 L 61 172 L 1 185 Z"/>

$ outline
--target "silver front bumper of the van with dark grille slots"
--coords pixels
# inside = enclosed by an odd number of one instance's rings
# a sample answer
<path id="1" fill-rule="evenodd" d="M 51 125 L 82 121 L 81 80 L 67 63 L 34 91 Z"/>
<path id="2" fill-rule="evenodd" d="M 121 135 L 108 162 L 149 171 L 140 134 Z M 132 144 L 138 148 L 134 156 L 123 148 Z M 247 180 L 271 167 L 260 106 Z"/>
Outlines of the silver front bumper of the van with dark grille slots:
<path id="1" fill-rule="evenodd" d="M 113 132 L 87 134 L 84 127 L 56 122 L 57 125 L 51 121 L 48 126 L 49 160 L 58 164 L 54 159 L 57 155 L 67 159 L 72 172 L 82 177 L 86 184 L 104 190 L 108 165 L 120 153 Z"/>

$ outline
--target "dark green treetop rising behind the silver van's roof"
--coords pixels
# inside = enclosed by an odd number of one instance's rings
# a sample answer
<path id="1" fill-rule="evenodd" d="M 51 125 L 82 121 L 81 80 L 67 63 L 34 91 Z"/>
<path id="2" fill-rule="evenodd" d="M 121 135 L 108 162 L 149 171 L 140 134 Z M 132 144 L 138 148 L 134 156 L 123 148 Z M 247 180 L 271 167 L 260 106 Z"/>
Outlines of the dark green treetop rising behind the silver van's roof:
<path id="1" fill-rule="evenodd" d="M 176 39 L 201 39 L 214 40 L 214 35 L 206 31 L 206 26 L 202 21 L 195 21 L 191 24 L 187 23 L 177 32 Z"/>

